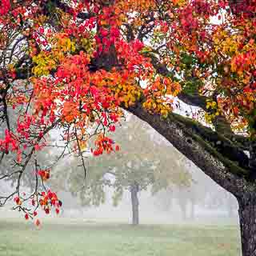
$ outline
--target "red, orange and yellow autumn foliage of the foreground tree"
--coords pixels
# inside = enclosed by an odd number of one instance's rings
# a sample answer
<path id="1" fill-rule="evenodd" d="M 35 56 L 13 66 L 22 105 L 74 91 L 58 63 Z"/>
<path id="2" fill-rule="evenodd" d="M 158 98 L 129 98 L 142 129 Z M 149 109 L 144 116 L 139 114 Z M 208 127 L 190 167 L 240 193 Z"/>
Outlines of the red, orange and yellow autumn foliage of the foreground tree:
<path id="1" fill-rule="evenodd" d="M 241 8 L 234 15 L 226 0 L 1 0 L 0 152 L 14 155 L 11 176 L 19 181 L 34 162 L 36 183 L 47 182 L 50 170 L 34 155 L 56 128 L 80 157 L 90 138 L 94 156 L 117 151 L 111 133 L 123 108 L 140 101 L 166 118 L 182 92 L 207 98 L 206 122 L 222 114 L 254 136 L 256 2 Z M 40 187 L 11 195 L 26 219 L 37 207 L 58 214 L 62 206 Z"/>

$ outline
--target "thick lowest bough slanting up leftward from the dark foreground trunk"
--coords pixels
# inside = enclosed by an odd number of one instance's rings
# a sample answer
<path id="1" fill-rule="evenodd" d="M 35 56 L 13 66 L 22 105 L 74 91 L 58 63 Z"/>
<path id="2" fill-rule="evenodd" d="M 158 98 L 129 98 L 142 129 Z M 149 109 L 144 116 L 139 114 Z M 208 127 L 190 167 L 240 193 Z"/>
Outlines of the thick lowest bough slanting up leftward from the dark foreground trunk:
<path id="1" fill-rule="evenodd" d="M 170 114 L 168 118 L 162 119 L 158 114 L 149 114 L 140 103 L 128 110 L 162 134 L 186 158 L 226 190 L 238 196 L 238 191 L 243 191 L 248 184 L 244 177 L 249 171 L 222 156 L 200 133 L 194 134 L 190 127 L 178 120 L 180 116 Z"/>

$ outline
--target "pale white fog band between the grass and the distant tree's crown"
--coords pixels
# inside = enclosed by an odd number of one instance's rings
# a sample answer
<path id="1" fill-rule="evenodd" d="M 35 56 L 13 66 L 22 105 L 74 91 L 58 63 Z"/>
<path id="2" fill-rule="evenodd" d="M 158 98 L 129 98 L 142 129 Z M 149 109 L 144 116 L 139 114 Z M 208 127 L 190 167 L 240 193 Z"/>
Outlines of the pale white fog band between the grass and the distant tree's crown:
<path id="1" fill-rule="evenodd" d="M 150 190 L 138 193 L 140 222 L 143 224 L 171 224 L 171 223 L 190 223 L 200 222 L 211 224 L 213 222 L 238 222 L 238 205 L 236 199 L 217 184 L 211 182 L 209 178 L 203 177 L 204 174 L 197 170 L 202 177 L 197 184 L 197 190 L 188 187 L 184 190 L 160 190 L 154 196 Z M 193 178 L 196 180 L 197 175 Z M 207 192 L 205 200 L 197 193 L 203 192 L 205 186 L 212 183 Z M 5 186 L 1 186 L 2 188 Z M 100 206 L 81 206 L 79 198 L 70 192 L 60 191 L 58 197 L 62 198 L 63 206 L 60 216 L 51 214 L 46 217 L 42 213 L 41 218 L 81 218 L 91 222 L 122 222 L 131 223 L 131 200 L 130 193 L 126 191 L 118 206 L 113 206 L 113 190 L 106 189 L 106 202 Z M 191 198 L 193 194 L 193 198 Z M 12 202 L 0 208 L 1 218 L 17 218 L 21 214 L 11 210 Z M 191 216 L 191 208 L 194 205 L 194 216 Z M 186 210 L 185 208 L 186 207 Z M 186 211 L 186 217 L 184 217 Z"/>

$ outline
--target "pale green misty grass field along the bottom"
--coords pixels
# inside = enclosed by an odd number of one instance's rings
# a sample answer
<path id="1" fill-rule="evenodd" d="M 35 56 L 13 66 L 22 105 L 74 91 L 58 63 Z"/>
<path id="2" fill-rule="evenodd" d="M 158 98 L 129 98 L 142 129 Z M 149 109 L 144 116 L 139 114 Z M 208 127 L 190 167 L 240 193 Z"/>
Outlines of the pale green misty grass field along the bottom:
<path id="1" fill-rule="evenodd" d="M 0 219 L 0 256 L 240 256 L 236 226 L 128 226 Z"/>

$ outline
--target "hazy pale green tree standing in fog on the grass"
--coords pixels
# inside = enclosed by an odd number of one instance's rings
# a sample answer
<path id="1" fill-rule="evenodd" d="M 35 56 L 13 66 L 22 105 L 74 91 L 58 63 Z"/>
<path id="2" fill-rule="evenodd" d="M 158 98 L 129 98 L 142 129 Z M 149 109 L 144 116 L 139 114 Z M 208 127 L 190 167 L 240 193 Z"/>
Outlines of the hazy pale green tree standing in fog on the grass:
<path id="1" fill-rule="evenodd" d="M 104 188 L 111 186 L 114 188 L 114 206 L 118 206 L 124 191 L 129 191 L 132 223 L 137 225 L 140 191 L 152 188 L 155 193 L 163 187 L 187 184 L 190 174 L 182 169 L 184 158 L 178 151 L 155 142 L 148 126 L 136 118 L 123 123 L 113 138 L 121 142 L 121 149 L 114 155 L 87 158 L 88 178 L 84 186 L 81 168 L 78 171 L 73 166 L 70 190 L 79 194 L 82 203 L 99 205 L 105 201 Z"/>

